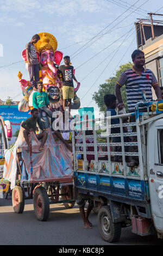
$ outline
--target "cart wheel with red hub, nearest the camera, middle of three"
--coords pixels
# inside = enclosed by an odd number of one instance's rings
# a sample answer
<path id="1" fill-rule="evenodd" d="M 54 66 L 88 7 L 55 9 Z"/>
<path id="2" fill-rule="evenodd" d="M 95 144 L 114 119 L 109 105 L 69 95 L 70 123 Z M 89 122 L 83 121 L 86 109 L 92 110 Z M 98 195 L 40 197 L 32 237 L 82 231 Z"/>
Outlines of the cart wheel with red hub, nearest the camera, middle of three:
<path id="1" fill-rule="evenodd" d="M 44 187 L 36 187 L 33 195 L 33 205 L 37 220 L 47 221 L 49 216 L 49 199 Z"/>

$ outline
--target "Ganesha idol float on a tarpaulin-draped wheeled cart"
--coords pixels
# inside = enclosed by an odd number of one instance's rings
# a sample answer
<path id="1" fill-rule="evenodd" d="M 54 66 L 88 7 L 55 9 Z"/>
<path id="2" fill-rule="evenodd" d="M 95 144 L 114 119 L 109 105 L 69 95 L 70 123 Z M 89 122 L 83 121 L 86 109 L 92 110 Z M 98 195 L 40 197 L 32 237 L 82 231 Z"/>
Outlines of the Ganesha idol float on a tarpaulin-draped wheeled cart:
<path id="1" fill-rule="evenodd" d="M 39 33 L 40 40 L 35 44 L 37 59 L 40 65 L 39 77 L 43 83 L 43 90 L 47 92 L 53 111 L 62 110 L 62 78 L 59 65 L 63 53 L 57 50 L 57 40 L 52 34 Z M 22 51 L 26 69 L 28 63 L 26 49 Z M 34 93 L 30 81 L 22 78 L 18 72 L 18 79 L 22 88 L 23 99 L 18 105 L 19 111 L 29 111 L 33 108 L 32 95 Z M 76 95 L 79 84 L 74 88 L 72 109 L 80 107 L 80 100 Z M 51 125 L 47 122 L 46 113 L 42 113 L 48 133 L 44 150 L 39 151 L 40 142 L 34 132 L 30 132 L 31 147 L 26 150 L 23 137 L 23 127 L 20 129 L 17 141 L 5 155 L 3 172 L 4 180 L 10 181 L 12 189 L 12 205 L 14 211 L 22 213 L 24 199 L 34 199 L 34 210 L 38 220 L 45 221 L 49 215 L 49 203 L 64 203 L 66 208 L 72 208 L 72 153 L 64 142 L 56 138 Z"/>

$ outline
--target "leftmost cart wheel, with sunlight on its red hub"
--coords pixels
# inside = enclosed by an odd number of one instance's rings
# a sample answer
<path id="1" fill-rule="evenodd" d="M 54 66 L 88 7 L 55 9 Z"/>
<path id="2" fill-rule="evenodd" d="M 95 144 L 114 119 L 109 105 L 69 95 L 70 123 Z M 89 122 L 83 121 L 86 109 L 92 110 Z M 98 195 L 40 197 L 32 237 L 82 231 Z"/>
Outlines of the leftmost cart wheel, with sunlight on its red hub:
<path id="1" fill-rule="evenodd" d="M 16 214 L 22 214 L 24 210 L 24 193 L 21 186 L 12 189 L 12 206 Z"/>

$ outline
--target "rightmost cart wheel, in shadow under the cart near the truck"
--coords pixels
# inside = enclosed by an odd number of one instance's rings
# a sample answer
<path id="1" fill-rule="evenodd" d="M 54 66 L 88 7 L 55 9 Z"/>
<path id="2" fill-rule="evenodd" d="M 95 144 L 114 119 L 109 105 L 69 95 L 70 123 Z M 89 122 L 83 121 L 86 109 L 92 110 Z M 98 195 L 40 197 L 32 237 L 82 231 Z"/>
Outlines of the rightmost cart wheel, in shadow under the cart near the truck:
<path id="1" fill-rule="evenodd" d="M 73 191 L 72 191 L 72 186 L 62 186 L 61 187 L 61 194 L 66 194 L 66 196 L 61 196 L 62 200 L 70 200 L 73 199 Z M 74 204 L 76 202 L 71 202 L 71 203 L 63 203 L 66 209 L 71 209 L 73 208 Z"/>

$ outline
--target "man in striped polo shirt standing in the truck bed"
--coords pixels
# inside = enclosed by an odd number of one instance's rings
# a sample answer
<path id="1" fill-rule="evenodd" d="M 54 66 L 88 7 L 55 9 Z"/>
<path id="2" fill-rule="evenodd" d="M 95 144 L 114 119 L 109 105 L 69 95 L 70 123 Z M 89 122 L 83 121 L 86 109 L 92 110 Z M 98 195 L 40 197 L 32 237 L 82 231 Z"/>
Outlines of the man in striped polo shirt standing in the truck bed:
<path id="1" fill-rule="evenodd" d="M 152 87 L 155 90 L 155 94 L 158 97 L 157 100 L 162 100 L 161 90 L 156 80 L 155 75 L 152 70 L 145 69 L 143 66 L 145 65 L 145 55 L 140 50 L 135 50 L 131 54 L 131 58 L 133 60 L 133 67 L 131 69 L 125 70 L 122 72 L 120 79 L 117 81 L 115 86 L 115 92 L 118 100 L 118 109 L 122 109 L 124 107 L 124 103 L 122 101 L 121 96 L 121 87 L 126 85 L 127 92 L 127 105 L 129 112 L 135 111 L 135 105 L 137 102 L 142 101 L 142 91 L 146 93 L 147 101 L 152 101 Z M 146 111 L 146 108 L 139 107 L 141 112 Z M 135 116 L 130 117 L 130 122 L 135 122 Z M 132 132 L 136 131 L 136 127 L 133 126 Z M 131 138 L 132 142 L 135 142 L 136 138 Z M 137 151 L 135 147 L 131 147 L 131 152 Z M 134 167 L 138 165 L 139 162 L 133 157 L 133 160 L 129 163 L 130 167 Z"/>

